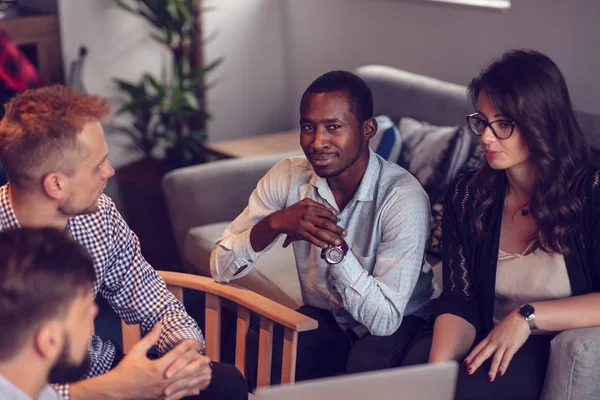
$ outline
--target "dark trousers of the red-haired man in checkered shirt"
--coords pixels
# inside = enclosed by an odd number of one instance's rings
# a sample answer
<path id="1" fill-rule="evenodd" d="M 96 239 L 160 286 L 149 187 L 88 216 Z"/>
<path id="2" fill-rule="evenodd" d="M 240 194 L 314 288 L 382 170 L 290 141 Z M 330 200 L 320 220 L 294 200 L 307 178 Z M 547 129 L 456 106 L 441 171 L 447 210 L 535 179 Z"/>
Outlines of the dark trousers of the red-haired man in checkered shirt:
<path id="1" fill-rule="evenodd" d="M 156 354 L 150 351 L 150 358 L 156 357 Z M 123 354 L 119 353 L 113 361 L 111 368 L 114 368 L 122 359 Z M 238 369 L 231 364 L 219 362 L 212 363 L 212 378 L 210 384 L 200 392 L 198 396 L 189 396 L 188 400 L 247 400 L 248 384 Z"/>

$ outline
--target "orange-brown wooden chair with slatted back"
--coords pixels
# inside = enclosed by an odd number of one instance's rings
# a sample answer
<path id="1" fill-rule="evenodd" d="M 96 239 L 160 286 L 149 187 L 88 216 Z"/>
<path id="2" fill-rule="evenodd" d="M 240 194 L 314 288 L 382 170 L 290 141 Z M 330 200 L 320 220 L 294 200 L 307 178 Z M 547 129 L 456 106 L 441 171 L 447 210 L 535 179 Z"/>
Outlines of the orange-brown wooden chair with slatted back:
<path id="1" fill-rule="evenodd" d="M 221 284 L 211 278 L 180 272 L 157 271 L 165 280 L 167 288 L 177 299 L 183 301 L 183 289 L 194 289 L 206 294 L 206 355 L 219 361 L 221 354 L 221 299 L 237 304 L 237 327 L 235 334 L 235 366 L 245 374 L 246 333 L 250 328 L 250 313 L 260 315 L 258 347 L 257 386 L 269 386 L 271 382 L 271 357 L 273 351 L 273 326 L 284 328 L 283 363 L 281 383 L 293 383 L 296 375 L 296 352 L 298 333 L 317 329 L 318 322 L 264 296 L 231 284 Z M 121 322 L 123 350 L 125 353 L 140 340 L 139 325 Z"/>

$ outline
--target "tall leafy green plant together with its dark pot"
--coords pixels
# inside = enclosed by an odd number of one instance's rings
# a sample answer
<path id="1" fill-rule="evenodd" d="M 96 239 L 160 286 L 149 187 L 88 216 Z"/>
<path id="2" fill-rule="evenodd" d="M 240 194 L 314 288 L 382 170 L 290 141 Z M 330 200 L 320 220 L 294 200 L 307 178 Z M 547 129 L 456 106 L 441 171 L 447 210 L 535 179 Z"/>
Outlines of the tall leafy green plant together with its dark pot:
<path id="1" fill-rule="evenodd" d="M 205 75 L 220 62 L 202 66 L 199 0 L 115 0 L 153 27 L 152 38 L 169 50 L 170 68 L 161 77 L 144 74 L 137 82 L 115 79 L 123 101 L 117 114 L 129 124 L 108 131 L 132 139 L 143 158 L 117 170 L 125 217 L 138 234 L 144 255 L 160 269 L 178 269 L 161 180 L 174 168 L 205 162 L 208 152 L 204 108 Z M 164 154 L 164 156 L 157 156 Z"/>

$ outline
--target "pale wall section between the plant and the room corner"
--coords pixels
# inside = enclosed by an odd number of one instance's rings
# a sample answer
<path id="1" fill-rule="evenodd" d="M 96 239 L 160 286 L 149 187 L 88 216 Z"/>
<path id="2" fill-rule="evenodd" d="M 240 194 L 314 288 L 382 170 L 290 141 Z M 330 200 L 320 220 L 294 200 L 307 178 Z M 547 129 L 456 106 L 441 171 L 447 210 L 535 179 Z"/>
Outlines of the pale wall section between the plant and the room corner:
<path id="1" fill-rule="evenodd" d="M 206 62 L 224 57 L 210 75 L 209 140 L 260 135 L 288 128 L 286 39 L 281 0 L 204 0 Z"/>

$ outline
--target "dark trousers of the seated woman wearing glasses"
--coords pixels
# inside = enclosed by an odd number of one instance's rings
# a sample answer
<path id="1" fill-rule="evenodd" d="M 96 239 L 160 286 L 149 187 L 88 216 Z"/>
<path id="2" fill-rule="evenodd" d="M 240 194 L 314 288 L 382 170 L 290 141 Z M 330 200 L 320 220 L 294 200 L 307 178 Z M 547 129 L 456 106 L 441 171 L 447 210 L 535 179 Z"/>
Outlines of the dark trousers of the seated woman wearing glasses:
<path id="1" fill-rule="evenodd" d="M 420 335 L 402 365 L 426 364 L 432 339 L 431 333 Z M 515 353 L 505 374 L 497 376 L 492 383 L 487 382 L 492 358 L 485 361 L 473 375 L 468 375 L 466 368 L 461 366 L 455 400 L 538 400 L 546 377 L 551 340 L 550 335 L 531 335 Z"/>

